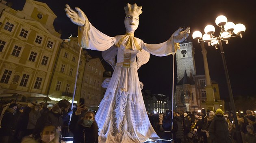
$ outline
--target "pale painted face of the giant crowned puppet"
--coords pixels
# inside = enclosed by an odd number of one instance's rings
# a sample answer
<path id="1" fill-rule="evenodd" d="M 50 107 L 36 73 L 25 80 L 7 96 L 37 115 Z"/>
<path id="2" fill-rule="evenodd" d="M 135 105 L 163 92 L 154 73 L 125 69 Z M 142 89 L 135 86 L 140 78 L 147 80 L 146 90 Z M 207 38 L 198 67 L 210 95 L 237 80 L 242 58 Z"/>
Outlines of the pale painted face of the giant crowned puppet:
<path id="1" fill-rule="evenodd" d="M 127 14 L 124 19 L 124 26 L 126 28 L 126 32 L 134 33 L 139 26 L 139 15 L 135 13 Z"/>

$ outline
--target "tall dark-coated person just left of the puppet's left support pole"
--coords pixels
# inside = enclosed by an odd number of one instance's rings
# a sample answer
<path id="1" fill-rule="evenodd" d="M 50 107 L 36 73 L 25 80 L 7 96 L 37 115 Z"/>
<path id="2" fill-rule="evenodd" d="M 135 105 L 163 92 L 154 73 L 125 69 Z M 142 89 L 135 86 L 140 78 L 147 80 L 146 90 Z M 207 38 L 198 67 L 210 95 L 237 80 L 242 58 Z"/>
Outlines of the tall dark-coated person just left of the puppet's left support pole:
<path id="1" fill-rule="evenodd" d="M 61 118 L 63 114 L 62 110 L 63 109 L 68 110 L 69 107 L 70 107 L 69 101 L 64 99 L 56 103 L 49 112 L 41 115 L 41 117 L 37 120 L 37 124 L 33 132 L 33 135 L 35 136 L 35 138 L 39 137 L 38 130 L 39 128 L 41 128 L 42 124 L 46 122 L 51 122 L 52 125 L 57 127 L 58 132 L 61 132 L 61 129 L 63 126 L 63 120 Z"/>

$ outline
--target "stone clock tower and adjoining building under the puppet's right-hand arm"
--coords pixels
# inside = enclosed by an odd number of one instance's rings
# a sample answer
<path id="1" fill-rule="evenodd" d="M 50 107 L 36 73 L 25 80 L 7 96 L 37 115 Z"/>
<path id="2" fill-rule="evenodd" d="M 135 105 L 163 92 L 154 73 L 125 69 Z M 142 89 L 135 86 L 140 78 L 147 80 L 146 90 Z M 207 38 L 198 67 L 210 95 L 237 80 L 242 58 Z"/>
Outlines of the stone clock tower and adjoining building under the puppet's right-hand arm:
<path id="1" fill-rule="evenodd" d="M 176 52 L 178 84 L 174 95 L 174 107 L 177 111 L 197 111 L 202 108 L 215 111 L 224 104 L 219 96 L 218 83 L 210 80 L 214 100 L 213 104 L 206 106 L 206 76 L 196 75 L 194 53 L 193 44 L 189 39 L 180 43 L 180 49 Z"/>

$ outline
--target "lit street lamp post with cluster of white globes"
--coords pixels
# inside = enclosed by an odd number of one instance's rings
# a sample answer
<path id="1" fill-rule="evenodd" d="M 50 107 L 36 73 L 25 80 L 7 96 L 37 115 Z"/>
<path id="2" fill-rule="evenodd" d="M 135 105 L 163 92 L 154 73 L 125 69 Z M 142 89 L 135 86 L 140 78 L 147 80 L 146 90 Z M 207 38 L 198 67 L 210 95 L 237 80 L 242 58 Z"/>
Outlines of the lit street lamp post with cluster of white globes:
<path id="1" fill-rule="evenodd" d="M 210 45 L 215 46 L 215 49 L 217 49 L 217 45 L 219 44 L 219 48 L 221 51 L 220 54 L 221 54 L 221 58 L 222 58 L 222 62 L 223 62 L 224 70 L 225 70 L 226 81 L 228 84 L 228 94 L 229 94 L 229 98 L 230 98 L 230 104 L 231 104 L 233 113 L 235 113 L 236 109 L 235 109 L 235 105 L 234 105 L 234 98 L 233 98 L 233 94 L 232 94 L 232 88 L 231 88 L 230 79 L 229 79 L 229 75 L 228 75 L 228 67 L 226 64 L 222 41 L 224 41 L 224 42 L 226 42 L 226 44 L 228 44 L 229 38 L 233 38 L 233 37 L 237 37 L 237 36 L 240 36 L 242 38 L 242 34 L 243 34 L 243 32 L 245 32 L 245 25 L 240 24 L 240 23 L 235 25 L 232 22 L 228 22 L 227 17 L 225 17 L 223 15 L 218 16 L 215 20 L 215 23 L 216 23 L 216 25 L 221 27 L 221 32 L 219 34 L 219 37 L 213 36 L 213 34 L 215 32 L 215 27 L 213 25 L 207 25 L 204 28 L 204 32 L 205 32 L 204 36 L 202 36 L 201 32 L 195 31 L 195 32 L 193 32 L 192 37 L 193 37 L 193 39 L 197 40 L 199 43 L 200 43 L 200 41 L 204 41 L 204 42 L 208 43 L 208 46 L 210 46 Z M 203 37 L 203 39 L 200 40 L 202 37 Z M 235 126 L 236 126 L 235 135 L 237 137 L 237 141 L 239 143 L 243 143 L 242 138 L 241 138 L 241 132 L 239 130 L 238 120 L 237 120 L 236 116 L 234 116 L 234 122 L 235 122 Z"/>

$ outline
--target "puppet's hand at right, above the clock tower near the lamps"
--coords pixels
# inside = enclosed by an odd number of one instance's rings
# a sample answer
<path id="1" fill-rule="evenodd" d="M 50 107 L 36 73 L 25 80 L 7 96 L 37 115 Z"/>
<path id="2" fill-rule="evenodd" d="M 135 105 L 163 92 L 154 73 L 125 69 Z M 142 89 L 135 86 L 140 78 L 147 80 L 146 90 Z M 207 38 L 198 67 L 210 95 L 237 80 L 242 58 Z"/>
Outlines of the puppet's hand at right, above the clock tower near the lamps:
<path id="1" fill-rule="evenodd" d="M 189 33 L 190 33 L 190 28 L 187 27 L 186 30 L 180 32 L 182 30 L 182 28 L 180 27 L 178 30 L 176 30 L 173 34 L 174 36 L 174 42 L 175 43 L 180 43 L 183 42 L 186 38 L 189 37 Z"/>

